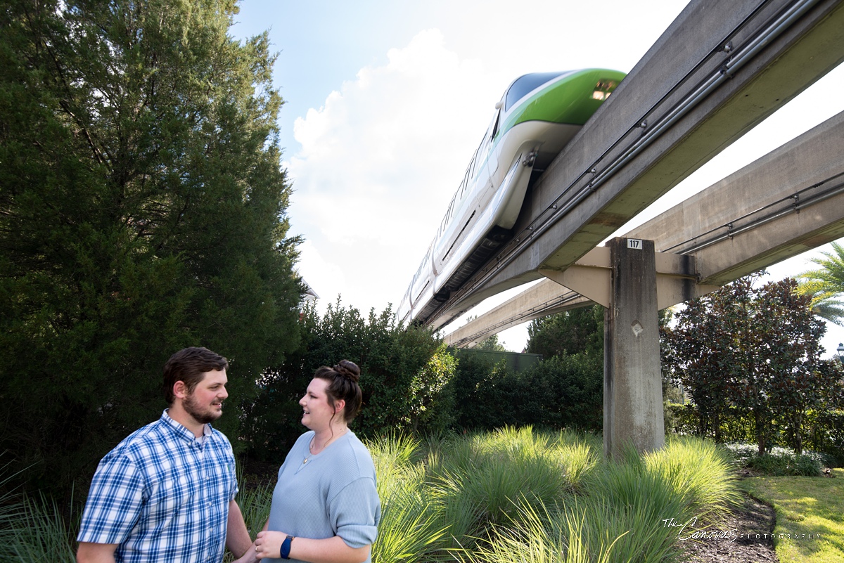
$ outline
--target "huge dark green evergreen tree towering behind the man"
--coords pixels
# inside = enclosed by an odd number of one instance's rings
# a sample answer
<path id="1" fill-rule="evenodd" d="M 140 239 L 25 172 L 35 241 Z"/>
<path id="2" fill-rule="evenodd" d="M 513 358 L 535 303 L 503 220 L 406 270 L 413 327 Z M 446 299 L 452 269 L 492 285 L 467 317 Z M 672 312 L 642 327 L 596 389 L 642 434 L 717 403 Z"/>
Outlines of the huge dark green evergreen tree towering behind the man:
<path id="1" fill-rule="evenodd" d="M 181 347 L 230 358 L 235 398 L 296 345 L 282 100 L 267 35 L 227 35 L 236 12 L 0 9 L 0 449 L 41 483 L 86 480 L 159 416 Z"/>

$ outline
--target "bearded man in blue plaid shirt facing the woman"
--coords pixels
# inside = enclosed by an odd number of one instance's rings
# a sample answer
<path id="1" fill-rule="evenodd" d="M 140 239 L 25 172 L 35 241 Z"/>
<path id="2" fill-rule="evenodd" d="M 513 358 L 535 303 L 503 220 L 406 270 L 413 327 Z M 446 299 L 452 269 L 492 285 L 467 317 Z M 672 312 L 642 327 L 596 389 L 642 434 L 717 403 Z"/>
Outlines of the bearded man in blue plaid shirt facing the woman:
<path id="1" fill-rule="evenodd" d="M 252 545 L 235 502 L 235 456 L 211 428 L 229 394 L 225 357 L 176 352 L 164 367 L 165 409 L 102 458 L 78 534 L 79 563 L 219 563 L 224 544 Z"/>

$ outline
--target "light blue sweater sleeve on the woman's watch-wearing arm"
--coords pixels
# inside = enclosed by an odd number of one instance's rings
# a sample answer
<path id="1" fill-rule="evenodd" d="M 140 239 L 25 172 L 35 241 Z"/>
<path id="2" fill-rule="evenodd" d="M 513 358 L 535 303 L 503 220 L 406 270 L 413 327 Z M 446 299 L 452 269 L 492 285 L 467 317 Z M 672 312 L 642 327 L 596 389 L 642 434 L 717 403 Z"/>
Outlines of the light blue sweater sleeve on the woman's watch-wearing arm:
<path id="1" fill-rule="evenodd" d="M 349 547 L 374 544 L 381 520 L 381 501 L 378 500 L 375 480 L 360 477 L 350 482 L 331 500 L 328 512 L 337 535 Z"/>

